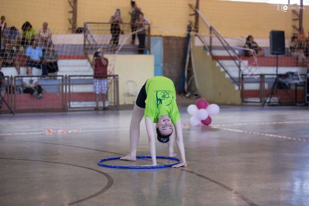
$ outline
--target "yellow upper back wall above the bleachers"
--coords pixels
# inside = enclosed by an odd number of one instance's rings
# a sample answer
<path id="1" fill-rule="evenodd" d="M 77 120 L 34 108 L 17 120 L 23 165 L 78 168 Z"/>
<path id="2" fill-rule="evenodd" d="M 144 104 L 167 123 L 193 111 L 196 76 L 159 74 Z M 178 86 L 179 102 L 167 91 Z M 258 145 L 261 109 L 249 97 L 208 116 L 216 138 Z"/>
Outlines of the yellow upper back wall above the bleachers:
<path id="1" fill-rule="evenodd" d="M 194 0 L 139 0 L 152 28 L 152 35 L 186 36 L 188 20 L 194 20 L 188 3 Z M 84 21 L 108 22 L 116 8 L 121 9 L 125 22 L 130 21 L 128 0 L 78 0 L 77 24 Z M 68 13 L 71 8 L 65 0 L 1 0 L 0 15 L 6 16 L 9 26 L 20 28 L 28 20 L 38 31 L 47 21 L 53 33 L 69 33 Z M 270 30 L 285 30 L 286 38 L 292 35 L 292 13 L 277 11 L 276 4 L 200 0 L 200 10 L 210 24 L 223 36 L 243 37 L 252 34 L 256 38 L 268 38 Z M 309 6 L 305 6 L 303 25 L 309 30 Z M 205 26 L 200 24 L 201 31 Z"/>

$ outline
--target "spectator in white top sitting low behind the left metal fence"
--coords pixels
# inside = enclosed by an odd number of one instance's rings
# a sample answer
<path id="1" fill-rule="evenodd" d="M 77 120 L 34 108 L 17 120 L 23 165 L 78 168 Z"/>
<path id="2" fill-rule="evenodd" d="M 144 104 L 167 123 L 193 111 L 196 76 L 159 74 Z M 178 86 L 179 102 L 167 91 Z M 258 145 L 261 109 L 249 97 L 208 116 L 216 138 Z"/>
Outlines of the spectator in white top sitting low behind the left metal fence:
<path id="1" fill-rule="evenodd" d="M 32 67 L 27 67 L 27 77 L 23 77 L 23 93 L 32 94 L 37 99 L 42 99 L 42 87 L 38 83 L 38 78 L 33 77 Z"/>

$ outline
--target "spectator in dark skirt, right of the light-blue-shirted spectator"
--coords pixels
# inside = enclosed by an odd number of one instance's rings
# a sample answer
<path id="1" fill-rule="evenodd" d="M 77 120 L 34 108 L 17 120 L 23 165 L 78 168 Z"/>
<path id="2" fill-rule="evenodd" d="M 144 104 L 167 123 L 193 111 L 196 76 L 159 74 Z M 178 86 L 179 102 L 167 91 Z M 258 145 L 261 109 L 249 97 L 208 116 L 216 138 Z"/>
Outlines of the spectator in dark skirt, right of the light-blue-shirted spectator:
<path id="1" fill-rule="evenodd" d="M 50 44 L 48 49 L 44 54 L 44 64 L 47 66 L 48 75 L 53 74 L 55 79 L 57 79 L 57 71 L 58 71 L 58 54 L 55 50 L 55 46 Z"/>

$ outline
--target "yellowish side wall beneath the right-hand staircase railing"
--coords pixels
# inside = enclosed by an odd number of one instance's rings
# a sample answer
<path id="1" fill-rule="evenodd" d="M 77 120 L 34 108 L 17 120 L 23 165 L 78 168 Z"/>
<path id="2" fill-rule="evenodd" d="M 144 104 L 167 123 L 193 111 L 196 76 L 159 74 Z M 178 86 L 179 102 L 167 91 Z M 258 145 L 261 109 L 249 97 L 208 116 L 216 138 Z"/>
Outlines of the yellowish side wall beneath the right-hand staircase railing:
<path id="1" fill-rule="evenodd" d="M 235 84 L 225 77 L 225 72 L 220 71 L 202 46 L 193 47 L 193 57 L 201 97 L 210 103 L 240 105 L 240 91 L 235 90 Z"/>

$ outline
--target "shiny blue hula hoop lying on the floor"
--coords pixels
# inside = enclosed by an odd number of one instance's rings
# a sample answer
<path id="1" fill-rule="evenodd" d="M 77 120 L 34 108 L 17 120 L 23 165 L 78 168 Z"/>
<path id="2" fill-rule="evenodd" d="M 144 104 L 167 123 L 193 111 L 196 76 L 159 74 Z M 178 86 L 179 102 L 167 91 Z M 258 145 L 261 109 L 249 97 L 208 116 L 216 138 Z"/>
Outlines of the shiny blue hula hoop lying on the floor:
<path id="1" fill-rule="evenodd" d="M 160 166 L 147 166 L 147 167 L 131 167 L 131 166 L 117 166 L 117 165 L 104 165 L 101 164 L 101 162 L 108 161 L 108 160 L 117 160 L 120 159 L 121 157 L 111 157 L 111 158 L 106 158 L 103 160 L 98 161 L 98 165 L 103 166 L 103 167 L 112 167 L 112 168 L 125 168 L 125 169 L 154 169 L 154 168 L 163 168 L 163 167 L 171 167 L 173 165 L 179 164 L 181 161 L 180 159 L 176 157 L 163 157 L 163 156 L 156 156 L 157 159 L 171 159 L 171 160 L 177 160 L 177 163 L 170 164 L 170 165 L 160 165 Z M 136 156 L 136 158 L 151 158 L 151 156 Z"/>

